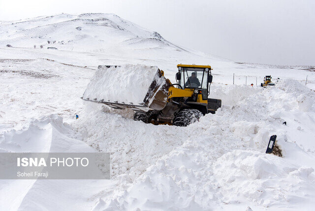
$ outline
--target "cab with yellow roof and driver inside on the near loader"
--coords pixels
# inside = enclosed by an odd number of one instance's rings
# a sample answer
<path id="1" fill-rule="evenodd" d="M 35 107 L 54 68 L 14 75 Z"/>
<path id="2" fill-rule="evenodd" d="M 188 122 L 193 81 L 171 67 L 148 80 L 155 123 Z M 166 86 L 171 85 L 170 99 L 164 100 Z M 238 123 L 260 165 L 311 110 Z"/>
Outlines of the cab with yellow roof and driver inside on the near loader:
<path id="1" fill-rule="evenodd" d="M 209 83 L 212 82 L 211 66 L 178 65 L 177 88 L 184 90 L 196 90 L 202 93 L 202 98 L 207 99 L 209 94 Z"/>

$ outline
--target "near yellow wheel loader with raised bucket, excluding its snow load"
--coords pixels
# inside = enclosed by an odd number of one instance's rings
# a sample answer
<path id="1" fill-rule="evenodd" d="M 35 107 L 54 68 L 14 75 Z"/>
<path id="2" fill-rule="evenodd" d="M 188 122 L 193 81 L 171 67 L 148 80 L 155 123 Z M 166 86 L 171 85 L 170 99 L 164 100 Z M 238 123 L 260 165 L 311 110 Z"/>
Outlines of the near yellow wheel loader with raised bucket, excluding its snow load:
<path id="1" fill-rule="evenodd" d="M 99 69 L 118 69 L 121 66 L 99 66 Z M 110 101 L 99 96 L 89 95 L 91 90 L 86 89 L 82 99 L 108 105 L 116 109 L 127 107 L 135 111 L 134 120 L 152 124 L 169 124 L 188 126 L 202 115 L 215 113 L 221 107 L 221 100 L 209 99 L 210 84 L 213 76 L 211 66 L 177 65 L 176 82 L 171 84 L 164 77 L 164 72 L 157 67 L 156 75 L 148 89 L 143 103 L 126 103 Z M 99 89 L 98 87 L 94 88 Z M 130 90 L 126 90 L 126 92 Z M 95 91 L 97 93 L 97 91 Z"/>

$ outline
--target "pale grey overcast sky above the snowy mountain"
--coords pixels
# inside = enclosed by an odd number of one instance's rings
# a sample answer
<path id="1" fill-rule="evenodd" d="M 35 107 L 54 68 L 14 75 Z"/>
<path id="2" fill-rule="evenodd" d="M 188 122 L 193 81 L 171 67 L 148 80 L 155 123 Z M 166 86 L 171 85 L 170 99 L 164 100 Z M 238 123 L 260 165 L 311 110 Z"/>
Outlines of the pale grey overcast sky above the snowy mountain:
<path id="1" fill-rule="evenodd" d="M 0 0 L 0 20 L 115 13 L 237 62 L 315 65 L 315 0 Z"/>

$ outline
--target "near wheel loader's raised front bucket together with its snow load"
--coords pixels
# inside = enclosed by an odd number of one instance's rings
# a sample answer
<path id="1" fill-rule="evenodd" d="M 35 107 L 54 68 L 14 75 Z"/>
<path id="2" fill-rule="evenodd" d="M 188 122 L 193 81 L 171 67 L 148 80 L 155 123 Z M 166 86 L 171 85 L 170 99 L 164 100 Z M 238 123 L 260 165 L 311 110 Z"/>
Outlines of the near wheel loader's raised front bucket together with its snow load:
<path id="1" fill-rule="evenodd" d="M 167 103 L 168 87 L 158 67 L 98 66 L 82 99 L 117 109 L 161 110 Z"/>

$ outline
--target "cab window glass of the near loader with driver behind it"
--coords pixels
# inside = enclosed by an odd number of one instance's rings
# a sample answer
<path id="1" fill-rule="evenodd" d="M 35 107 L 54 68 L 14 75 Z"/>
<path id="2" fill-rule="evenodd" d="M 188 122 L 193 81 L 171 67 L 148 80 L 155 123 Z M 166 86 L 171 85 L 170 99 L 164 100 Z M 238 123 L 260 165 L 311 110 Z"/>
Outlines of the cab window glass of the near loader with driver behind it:
<path id="1" fill-rule="evenodd" d="M 203 68 L 183 68 L 179 84 L 183 88 L 207 89 L 208 71 Z"/>

